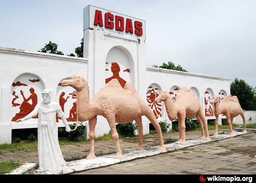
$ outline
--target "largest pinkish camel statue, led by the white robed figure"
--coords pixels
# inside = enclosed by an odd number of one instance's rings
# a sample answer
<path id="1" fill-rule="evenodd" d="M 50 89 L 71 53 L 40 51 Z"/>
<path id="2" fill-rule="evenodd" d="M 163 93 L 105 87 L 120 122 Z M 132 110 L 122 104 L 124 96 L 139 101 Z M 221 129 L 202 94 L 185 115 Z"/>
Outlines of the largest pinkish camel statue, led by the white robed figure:
<path id="1" fill-rule="evenodd" d="M 96 158 L 94 154 L 94 138 L 97 115 L 108 120 L 112 137 L 116 144 L 117 159 L 122 159 L 119 145 L 119 136 L 116 132 L 116 123 L 127 124 L 135 120 L 139 129 L 139 145 L 137 150 L 143 150 L 143 126 L 141 116 L 146 116 L 157 130 L 160 151 L 166 151 L 163 145 L 162 131 L 154 117 L 151 108 L 140 97 L 131 83 L 126 83 L 124 89 L 117 79 L 108 82 L 92 100 L 89 98 L 89 87 L 86 80 L 80 76 L 73 76 L 70 80 L 63 80 L 61 86 L 72 86 L 77 91 L 78 117 L 80 121 L 89 120 L 90 153 L 87 159 Z"/>

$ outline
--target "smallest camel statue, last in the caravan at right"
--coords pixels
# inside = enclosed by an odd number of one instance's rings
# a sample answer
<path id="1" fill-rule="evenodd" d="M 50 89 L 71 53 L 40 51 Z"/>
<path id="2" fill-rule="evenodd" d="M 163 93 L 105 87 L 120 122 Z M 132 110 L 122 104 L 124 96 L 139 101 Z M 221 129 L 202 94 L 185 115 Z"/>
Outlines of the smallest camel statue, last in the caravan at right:
<path id="1" fill-rule="evenodd" d="M 214 96 L 210 103 L 212 105 L 214 104 L 214 115 L 216 117 L 214 136 L 218 136 L 218 116 L 220 114 L 224 114 L 227 117 L 227 123 L 229 125 L 230 134 L 233 134 L 233 129 L 232 129 L 233 118 L 237 117 L 239 114 L 243 118 L 243 122 L 244 122 L 243 132 L 244 133 L 247 132 L 246 126 L 245 126 L 244 112 L 236 96 L 232 97 L 232 95 L 228 95 L 223 100 L 221 100 L 221 102 L 219 102 L 218 97 Z"/>

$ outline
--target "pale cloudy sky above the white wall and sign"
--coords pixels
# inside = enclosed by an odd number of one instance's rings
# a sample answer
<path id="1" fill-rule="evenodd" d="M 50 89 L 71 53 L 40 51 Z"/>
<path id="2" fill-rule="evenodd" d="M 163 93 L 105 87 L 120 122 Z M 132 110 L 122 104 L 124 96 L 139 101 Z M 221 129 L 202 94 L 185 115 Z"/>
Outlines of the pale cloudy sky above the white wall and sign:
<path id="1" fill-rule="evenodd" d="M 146 21 L 149 67 L 172 61 L 256 86 L 256 0 L 0 0 L 0 47 L 37 51 L 51 40 L 74 53 L 89 4 Z"/>

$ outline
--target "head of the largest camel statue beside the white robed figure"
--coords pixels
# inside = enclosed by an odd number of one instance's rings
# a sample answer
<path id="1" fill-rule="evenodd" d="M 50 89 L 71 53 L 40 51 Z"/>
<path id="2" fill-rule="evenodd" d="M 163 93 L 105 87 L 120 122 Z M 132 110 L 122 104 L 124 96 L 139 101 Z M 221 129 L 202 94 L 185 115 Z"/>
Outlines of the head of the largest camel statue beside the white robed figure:
<path id="1" fill-rule="evenodd" d="M 87 83 L 84 77 L 73 76 L 70 80 L 63 80 L 61 86 L 71 86 L 77 91 L 81 91 L 81 89 L 87 86 Z"/>

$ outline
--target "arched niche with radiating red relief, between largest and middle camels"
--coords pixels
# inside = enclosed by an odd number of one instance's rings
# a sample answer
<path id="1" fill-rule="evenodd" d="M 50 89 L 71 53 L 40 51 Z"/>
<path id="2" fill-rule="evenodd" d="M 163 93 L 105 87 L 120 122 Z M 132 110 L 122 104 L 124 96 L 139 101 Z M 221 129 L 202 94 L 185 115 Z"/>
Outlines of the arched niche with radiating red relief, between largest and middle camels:
<path id="1" fill-rule="evenodd" d="M 147 97 L 148 106 L 153 110 L 156 119 L 162 117 L 161 101 L 158 103 L 154 102 L 155 98 L 159 95 L 160 91 L 161 91 L 160 86 L 155 83 L 148 86 L 148 89 L 147 89 L 146 97 Z"/>

